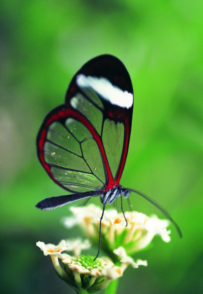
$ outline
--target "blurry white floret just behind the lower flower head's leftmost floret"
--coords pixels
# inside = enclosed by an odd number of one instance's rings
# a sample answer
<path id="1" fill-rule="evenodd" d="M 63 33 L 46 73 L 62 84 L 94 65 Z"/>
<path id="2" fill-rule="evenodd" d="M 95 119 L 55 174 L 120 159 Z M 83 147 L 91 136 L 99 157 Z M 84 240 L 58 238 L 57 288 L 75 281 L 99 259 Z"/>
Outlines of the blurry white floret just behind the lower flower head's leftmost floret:
<path id="1" fill-rule="evenodd" d="M 78 256 L 81 253 L 81 250 L 89 249 L 91 243 L 88 239 L 82 241 L 81 238 L 67 239 L 66 240 L 67 251 L 73 251 L 73 254 Z"/>

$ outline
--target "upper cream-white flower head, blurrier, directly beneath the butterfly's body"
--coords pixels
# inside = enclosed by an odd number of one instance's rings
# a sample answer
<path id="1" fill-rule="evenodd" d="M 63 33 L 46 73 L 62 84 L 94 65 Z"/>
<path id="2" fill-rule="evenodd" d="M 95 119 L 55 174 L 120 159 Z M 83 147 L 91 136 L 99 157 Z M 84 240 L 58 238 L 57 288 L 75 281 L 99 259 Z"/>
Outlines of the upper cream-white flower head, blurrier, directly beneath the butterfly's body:
<path id="1" fill-rule="evenodd" d="M 63 218 L 67 228 L 79 225 L 93 242 L 98 243 L 99 223 L 102 210 L 90 204 L 86 207 L 71 207 L 73 217 Z M 163 241 L 170 241 L 169 221 L 160 220 L 156 215 L 147 216 L 140 212 L 125 212 L 126 221 L 122 213 L 114 209 L 106 210 L 101 222 L 101 247 L 105 252 L 112 252 L 118 247 L 124 247 L 127 254 L 147 247 L 155 235 Z"/>

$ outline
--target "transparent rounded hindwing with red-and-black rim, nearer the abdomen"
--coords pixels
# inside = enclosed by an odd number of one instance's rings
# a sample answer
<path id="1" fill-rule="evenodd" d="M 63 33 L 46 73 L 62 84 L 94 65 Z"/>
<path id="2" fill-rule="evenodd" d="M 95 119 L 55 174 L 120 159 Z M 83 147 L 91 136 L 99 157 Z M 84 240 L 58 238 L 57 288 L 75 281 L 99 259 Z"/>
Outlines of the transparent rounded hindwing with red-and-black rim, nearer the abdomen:
<path id="1" fill-rule="evenodd" d="M 64 105 L 47 115 L 37 139 L 38 157 L 49 176 L 64 189 L 71 192 L 101 189 L 106 179 L 97 144 L 74 115 L 77 113 Z M 95 160 L 89 156 L 92 153 Z"/>

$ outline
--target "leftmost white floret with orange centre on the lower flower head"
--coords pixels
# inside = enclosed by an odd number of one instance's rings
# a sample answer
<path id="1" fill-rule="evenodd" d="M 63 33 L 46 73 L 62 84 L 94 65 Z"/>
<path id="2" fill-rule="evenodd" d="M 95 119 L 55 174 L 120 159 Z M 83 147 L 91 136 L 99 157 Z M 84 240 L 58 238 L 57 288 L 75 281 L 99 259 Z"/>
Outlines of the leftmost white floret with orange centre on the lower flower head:
<path id="1" fill-rule="evenodd" d="M 61 256 L 61 252 L 67 249 L 66 241 L 61 240 L 58 245 L 44 244 L 44 242 L 38 241 L 36 243 L 38 247 L 43 251 L 44 255 L 57 255 Z"/>

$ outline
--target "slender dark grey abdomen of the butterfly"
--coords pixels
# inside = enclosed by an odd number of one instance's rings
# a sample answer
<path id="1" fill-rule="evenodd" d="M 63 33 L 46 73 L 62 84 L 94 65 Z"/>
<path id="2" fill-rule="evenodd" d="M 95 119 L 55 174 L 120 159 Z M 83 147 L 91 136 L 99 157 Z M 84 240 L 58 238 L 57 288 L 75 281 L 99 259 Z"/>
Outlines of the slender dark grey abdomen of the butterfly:
<path id="1" fill-rule="evenodd" d="M 98 190 L 98 191 L 90 191 L 90 192 L 85 192 L 80 194 L 75 193 L 70 195 L 62 195 L 57 197 L 45 198 L 44 200 L 38 202 L 37 205 L 35 205 L 35 207 L 40 210 L 52 210 L 54 208 L 61 207 L 63 205 L 69 204 L 71 202 L 74 202 L 80 199 L 101 195 L 103 194 L 103 192 L 104 192 L 103 190 Z"/>

